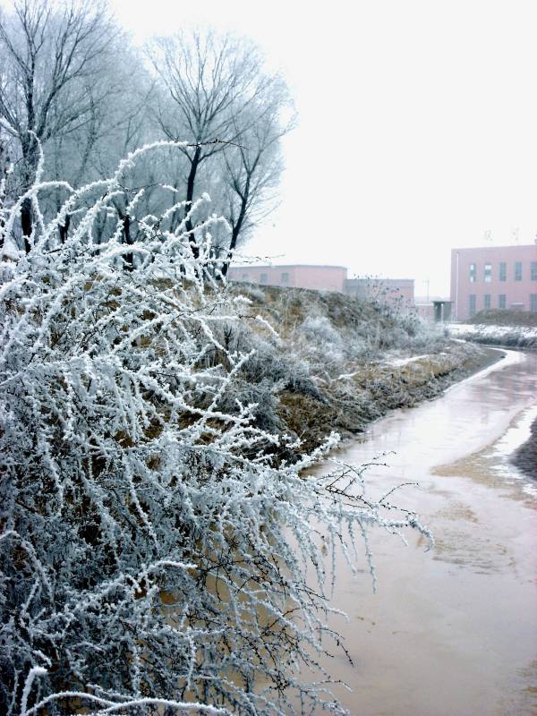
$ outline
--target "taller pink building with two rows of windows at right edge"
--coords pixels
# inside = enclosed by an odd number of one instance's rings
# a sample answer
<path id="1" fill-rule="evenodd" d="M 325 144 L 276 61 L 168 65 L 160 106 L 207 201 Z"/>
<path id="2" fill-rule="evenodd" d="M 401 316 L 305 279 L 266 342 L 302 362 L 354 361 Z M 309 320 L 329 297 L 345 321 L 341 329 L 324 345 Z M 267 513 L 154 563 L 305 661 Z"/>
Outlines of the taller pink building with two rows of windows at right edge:
<path id="1" fill-rule="evenodd" d="M 537 244 L 451 251 L 453 318 L 483 309 L 537 311 Z"/>

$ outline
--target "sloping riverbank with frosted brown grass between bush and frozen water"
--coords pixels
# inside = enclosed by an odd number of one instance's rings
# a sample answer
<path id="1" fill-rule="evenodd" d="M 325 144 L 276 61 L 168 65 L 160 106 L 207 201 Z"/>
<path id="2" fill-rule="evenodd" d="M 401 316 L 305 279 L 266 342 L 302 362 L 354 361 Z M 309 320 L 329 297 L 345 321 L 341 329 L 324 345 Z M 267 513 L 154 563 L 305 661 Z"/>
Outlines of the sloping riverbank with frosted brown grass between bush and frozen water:
<path id="1" fill-rule="evenodd" d="M 251 331 L 234 337 L 255 354 L 238 386 L 260 427 L 282 438 L 287 460 L 330 432 L 352 439 L 389 411 L 439 396 L 501 352 L 454 341 L 417 316 L 337 293 L 234 285 Z M 263 321 L 274 328 L 271 335 Z M 300 447 L 286 445 L 300 439 Z"/>

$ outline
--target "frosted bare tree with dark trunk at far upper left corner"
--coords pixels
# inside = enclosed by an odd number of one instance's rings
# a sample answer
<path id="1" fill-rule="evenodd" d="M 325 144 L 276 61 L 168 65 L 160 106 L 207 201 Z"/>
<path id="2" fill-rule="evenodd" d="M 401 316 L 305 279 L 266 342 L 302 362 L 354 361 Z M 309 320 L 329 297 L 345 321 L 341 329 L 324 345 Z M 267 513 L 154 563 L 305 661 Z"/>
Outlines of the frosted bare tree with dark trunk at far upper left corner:
<path id="1" fill-rule="evenodd" d="M 34 181 L 38 142 L 88 125 L 105 95 L 99 80 L 117 30 L 101 2 L 18 0 L 0 18 L 0 119 L 20 153 L 21 190 Z M 26 251 L 32 233 L 31 201 L 21 207 Z"/>

